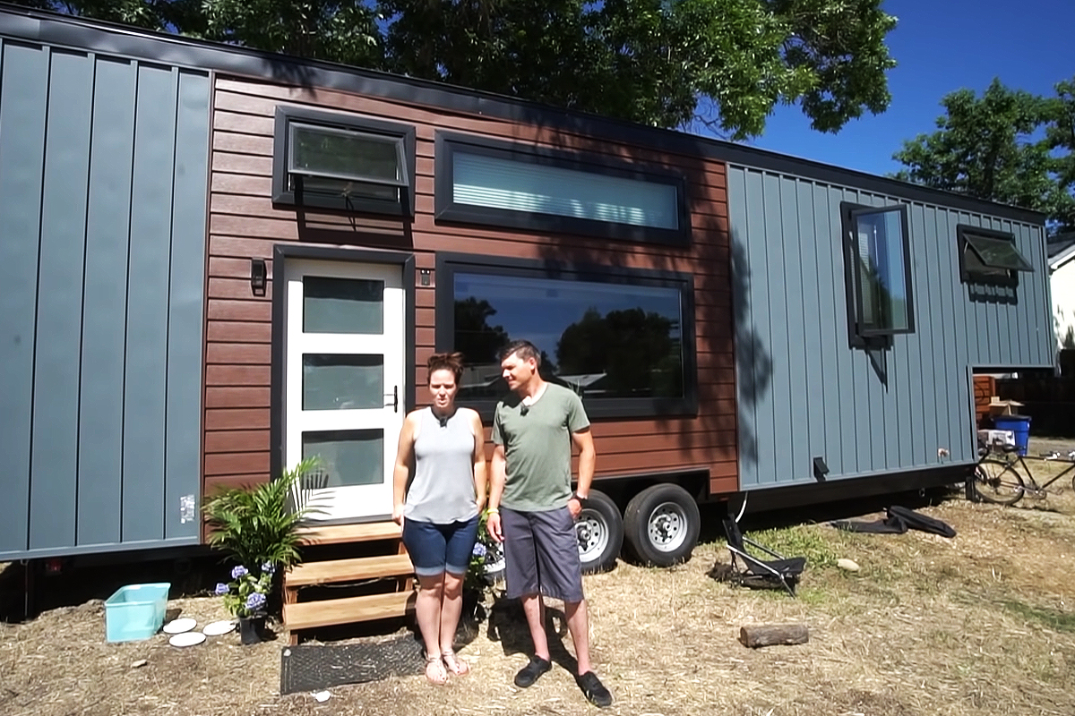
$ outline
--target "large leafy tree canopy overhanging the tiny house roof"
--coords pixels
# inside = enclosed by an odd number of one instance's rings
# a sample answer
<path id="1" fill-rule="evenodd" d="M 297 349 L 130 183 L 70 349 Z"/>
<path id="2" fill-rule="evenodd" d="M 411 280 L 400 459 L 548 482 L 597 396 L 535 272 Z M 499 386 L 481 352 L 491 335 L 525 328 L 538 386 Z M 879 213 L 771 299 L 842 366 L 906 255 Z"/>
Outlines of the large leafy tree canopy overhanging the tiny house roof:
<path id="1" fill-rule="evenodd" d="M 665 128 L 884 112 L 882 0 L 15 0 Z"/>

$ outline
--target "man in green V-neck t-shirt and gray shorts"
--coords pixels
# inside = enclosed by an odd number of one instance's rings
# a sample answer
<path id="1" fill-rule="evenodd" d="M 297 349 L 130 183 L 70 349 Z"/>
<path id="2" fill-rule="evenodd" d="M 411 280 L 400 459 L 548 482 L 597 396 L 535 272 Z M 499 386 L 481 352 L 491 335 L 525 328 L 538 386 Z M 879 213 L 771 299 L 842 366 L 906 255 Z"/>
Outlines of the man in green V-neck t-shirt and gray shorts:
<path id="1" fill-rule="evenodd" d="M 507 596 L 521 599 L 534 656 L 515 675 L 526 688 L 551 669 L 542 595 L 563 600 L 575 645 L 575 682 L 592 703 L 612 695 L 590 664 L 589 625 L 574 521 L 593 480 L 593 436 L 583 401 L 538 374 L 541 354 L 516 340 L 500 354 L 512 394 L 497 404 L 492 421 L 489 535 L 504 544 Z M 569 437 L 570 436 L 570 437 Z M 571 443 L 579 449 L 578 486 L 571 492 Z"/>

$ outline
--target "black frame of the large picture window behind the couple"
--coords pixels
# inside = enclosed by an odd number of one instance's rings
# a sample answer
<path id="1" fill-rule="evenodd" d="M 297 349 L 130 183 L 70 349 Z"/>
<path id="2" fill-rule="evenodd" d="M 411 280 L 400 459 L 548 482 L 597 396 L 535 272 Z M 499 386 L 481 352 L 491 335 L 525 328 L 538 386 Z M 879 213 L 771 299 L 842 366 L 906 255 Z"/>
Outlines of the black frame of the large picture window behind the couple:
<path id="1" fill-rule="evenodd" d="M 454 350 L 455 345 L 455 276 L 456 273 L 492 276 L 592 281 L 677 288 L 680 296 L 680 349 L 683 352 L 683 397 L 677 398 L 584 398 L 590 419 L 664 418 L 698 414 L 698 354 L 694 334 L 694 277 L 692 274 L 600 266 L 593 264 L 555 263 L 528 259 L 506 259 L 465 253 L 436 254 L 435 341 L 438 351 Z M 506 395 L 506 391 L 505 391 Z M 492 420 L 497 398 L 460 400 L 474 408 L 483 420 Z"/>

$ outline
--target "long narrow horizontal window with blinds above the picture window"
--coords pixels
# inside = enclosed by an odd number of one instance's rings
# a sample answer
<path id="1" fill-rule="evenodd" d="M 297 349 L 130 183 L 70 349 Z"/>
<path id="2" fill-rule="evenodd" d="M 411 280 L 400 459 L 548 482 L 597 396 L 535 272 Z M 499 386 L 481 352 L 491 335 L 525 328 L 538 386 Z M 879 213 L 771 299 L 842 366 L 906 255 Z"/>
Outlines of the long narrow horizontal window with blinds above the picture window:
<path id="1" fill-rule="evenodd" d="M 436 219 L 659 244 L 689 240 L 682 175 L 439 132 Z"/>

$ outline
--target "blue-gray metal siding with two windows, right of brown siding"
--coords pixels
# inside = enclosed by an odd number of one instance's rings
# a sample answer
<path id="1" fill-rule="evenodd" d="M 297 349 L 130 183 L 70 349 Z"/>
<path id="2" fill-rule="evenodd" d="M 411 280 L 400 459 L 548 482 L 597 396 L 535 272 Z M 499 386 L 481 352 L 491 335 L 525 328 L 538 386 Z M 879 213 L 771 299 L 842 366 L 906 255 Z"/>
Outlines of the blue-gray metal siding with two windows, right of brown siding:
<path id="1" fill-rule="evenodd" d="M 969 369 L 1052 364 L 1042 227 L 728 167 L 743 488 L 975 459 Z M 915 332 L 848 345 L 840 203 L 905 204 Z M 960 281 L 956 225 L 1010 231 L 1036 273 L 1014 292 Z M 938 449 L 949 451 L 946 457 Z"/>

